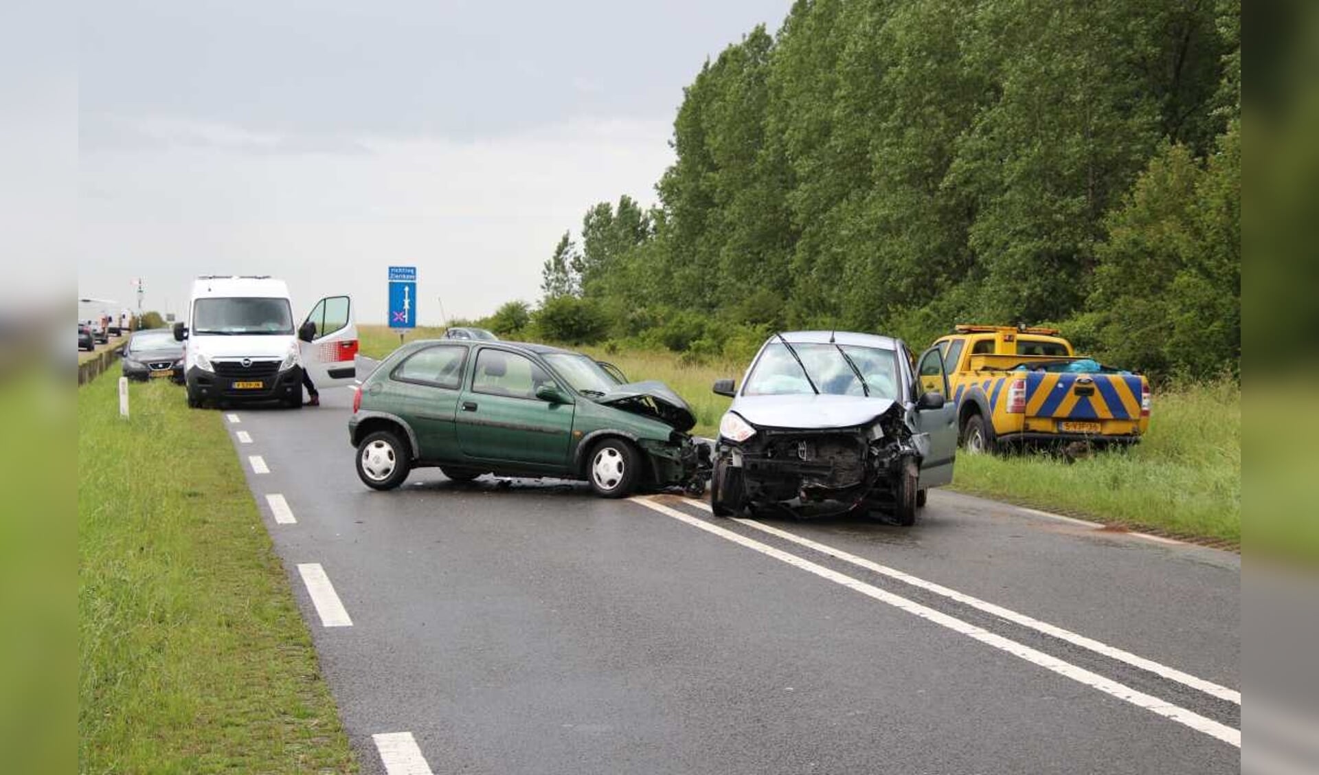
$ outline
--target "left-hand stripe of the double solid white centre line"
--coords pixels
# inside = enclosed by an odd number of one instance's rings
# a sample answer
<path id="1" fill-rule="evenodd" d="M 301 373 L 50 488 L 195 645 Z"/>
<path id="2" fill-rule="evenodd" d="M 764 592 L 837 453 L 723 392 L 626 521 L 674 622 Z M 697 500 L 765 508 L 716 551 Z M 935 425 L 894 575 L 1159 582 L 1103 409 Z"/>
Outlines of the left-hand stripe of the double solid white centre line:
<path id="1" fill-rule="evenodd" d="M 915 602 L 913 600 L 907 600 L 902 596 L 893 594 L 892 592 L 886 592 L 884 589 L 880 589 L 878 587 L 867 584 L 859 579 L 853 579 L 844 573 L 839 573 L 838 571 L 834 571 L 831 568 L 826 568 L 824 565 L 818 565 L 807 559 L 785 552 L 782 550 L 774 548 L 769 544 L 747 538 L 744 535 L 739 535 L 728 529 L 719 527 L 718 525 L 711 525 L 704 519 L 692 517 L 691 514 L 686 514 L 670 506 L 665 506 L 663 503 L 657 503 L 646 498 L 632 498 L 632 501 L 634 503 L 641 503 L 642 506 L 658 511 L 661 514 L 665 514 L 667 517 L 673 517 L 674 519 L 678 519 L 681 522 L 686 522 L 692 527 L 698 527 L 700 530 L 704 530 L 706 532 L 718 535 L 719 538 L 731 540 L 749 550 L 757 551 L 762 555 L 774 558 L 776 560 L 787 563 L 794 568 L 799 568 L 809 573 L 814 573 L 822 579 L 834 581 L 835 584 L 847 587 L 848 589 L 852 589 L 855 592 L 860 592 L 867 597 L 892 605 L 893 608 L 904 610 L 911 616 L 947 627 L 955 633 L 967 635 L 968 638 L 980 641 L 987 646 L 992 646 L 995 648 L 998 648 L 1000 651 L 1005 651 L 1008 654 L 1012 654 L 1013 656 L 1025 659 L 1031 664 L 1037 664 L 1039 667 L 1057 672 L 1060 676 L 1068 677 L 1074 681 L 1078 681 L 1093 689 L 1099 689 L 1105 695 L 1111 695 L 1113 697 L 1117 697 L 1119 700 L 1130 703 L 1137 708 L 1144 708 L 1151 713 L 1157 713 L 1165 718 L 1170 718 L 1178 724 L 1194 729 L 1195 732 L 1207 734 L 1212 738 L 1220 739 L 1239 749 L 1241 747 L 1241 730 L 1227 726 L 1225 724 L 1219 724 L 1212 718 L 1206 718 L 1204 716 L 1192 713 L 1191 710 L 1187 710 L 1184 708 L 1178 708 L 1177 705 L 1173 705 L 1167 700 L 1161 700 L 1151 695 L 1138 692 L 1130 687 L 1107 679 L 1083 667 L 1078 667 L 1068 662 L 1063 662 L 1057 656 L 1045 654 L 1043 651 L 1037 651 L 1035 648 L 1031 648 L 1022 643 L 1017 643 L 1016 641 L 1010 641 L 1008 638 L 1004 638 L 1002 635 L 997 635 L 985 629 L 977 627 L 969 622 L 964 622 L 959 618 L 951 617 L 943 612 L 921 605 L 919 602 Z"/>

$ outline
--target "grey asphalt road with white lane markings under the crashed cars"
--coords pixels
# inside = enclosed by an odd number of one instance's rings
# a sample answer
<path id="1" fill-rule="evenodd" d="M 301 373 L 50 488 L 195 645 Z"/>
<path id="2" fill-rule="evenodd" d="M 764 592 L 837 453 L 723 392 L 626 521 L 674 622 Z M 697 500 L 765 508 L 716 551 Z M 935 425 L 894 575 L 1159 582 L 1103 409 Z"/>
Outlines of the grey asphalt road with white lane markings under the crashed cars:
<path id="1" fill-rule="evenodd" d="M 1236 555 L 943 492 L 913 529 L 376 493 L 350 403 L 226 414 L 364 772 L 1240 768 Z"/>

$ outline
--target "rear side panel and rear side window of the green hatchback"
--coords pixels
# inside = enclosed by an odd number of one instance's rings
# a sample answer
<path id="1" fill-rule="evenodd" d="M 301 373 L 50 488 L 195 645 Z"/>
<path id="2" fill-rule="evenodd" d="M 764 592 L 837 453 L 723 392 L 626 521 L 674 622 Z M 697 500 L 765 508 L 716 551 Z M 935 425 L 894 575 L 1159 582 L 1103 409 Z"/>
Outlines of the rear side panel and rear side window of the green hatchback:
<path id="1" fill-rule="evenodd" d="M 390 390 L 402 398 L 404 419 L 417 434 L 418 457 L 427 463 L 463 457 L 454 423 L 467 355 L 462 344 L 437 344 L 409 355 L 389 373 Z"/>

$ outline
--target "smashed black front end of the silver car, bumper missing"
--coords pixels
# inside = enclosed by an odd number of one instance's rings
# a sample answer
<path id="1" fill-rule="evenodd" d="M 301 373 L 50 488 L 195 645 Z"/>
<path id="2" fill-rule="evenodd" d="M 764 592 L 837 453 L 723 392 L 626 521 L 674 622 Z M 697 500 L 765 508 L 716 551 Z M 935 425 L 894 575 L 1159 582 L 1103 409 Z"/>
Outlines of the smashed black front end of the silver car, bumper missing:
<path id="1" fill-rule="evenodd" d="M 720 439 L 714 490 L 720 506 L 882 506 L 897 497 L 909 463 L 919 468 L 925 436 L 900 413 L 849 428 L 757 428 L 743 443 Z"/>

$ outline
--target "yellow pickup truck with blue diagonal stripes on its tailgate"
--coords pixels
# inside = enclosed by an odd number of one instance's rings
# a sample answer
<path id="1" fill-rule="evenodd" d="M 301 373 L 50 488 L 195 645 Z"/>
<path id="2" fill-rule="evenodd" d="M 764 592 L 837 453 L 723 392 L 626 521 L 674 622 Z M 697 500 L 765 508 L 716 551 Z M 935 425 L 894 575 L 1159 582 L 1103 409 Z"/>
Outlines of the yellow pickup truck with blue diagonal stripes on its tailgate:
<path id="1" fill-rule="evenodd" d="M 968 452 L 1005 444 L 1134 443 L 1149 430 L 1141 374 L 1076 357 L 1053 328 L 958 326 L 922 353 L 923 390 L 958 406 Z"/>

